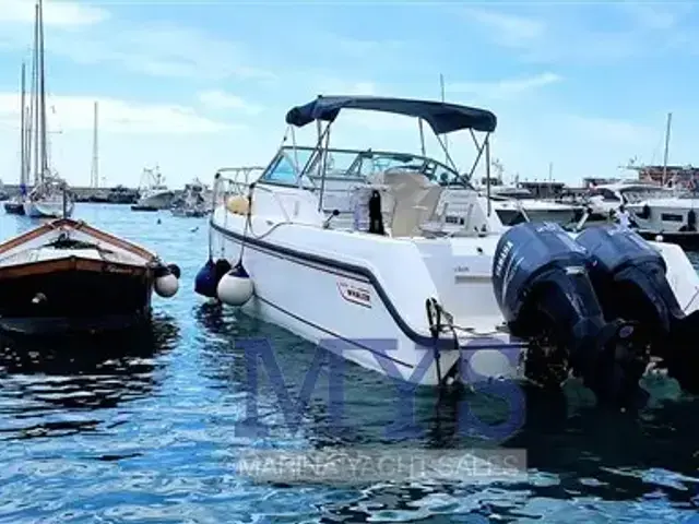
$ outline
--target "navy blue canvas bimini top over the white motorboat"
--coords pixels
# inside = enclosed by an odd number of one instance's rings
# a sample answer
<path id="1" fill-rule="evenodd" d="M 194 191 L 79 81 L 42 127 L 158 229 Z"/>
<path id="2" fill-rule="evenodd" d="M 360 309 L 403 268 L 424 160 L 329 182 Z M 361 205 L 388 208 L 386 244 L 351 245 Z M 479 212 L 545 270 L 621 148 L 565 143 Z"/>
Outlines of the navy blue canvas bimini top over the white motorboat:
<path id="1" fill-rule="evenodd" d="M 380 96 L 319 96 L 313 102 L 289 109 L 286 123 L 301 128 L 313 120 L 332 122 L 341 109 L 365 109 L 422 118 L 436 134 L 451 133 L 460 129 L 493 132 L 497 126 L 496 116 L 485 109 L 443 102 Z"/>

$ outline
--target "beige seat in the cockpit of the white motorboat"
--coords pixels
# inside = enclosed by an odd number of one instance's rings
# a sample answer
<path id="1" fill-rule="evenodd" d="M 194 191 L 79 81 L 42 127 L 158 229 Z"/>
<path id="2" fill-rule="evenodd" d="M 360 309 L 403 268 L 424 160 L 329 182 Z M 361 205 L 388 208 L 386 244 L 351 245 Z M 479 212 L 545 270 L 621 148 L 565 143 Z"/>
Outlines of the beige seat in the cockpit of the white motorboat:
<path id="1" fill-rule="evenodd" d="M 415 171 L 389 169 L 382 179 L 395 202 L 389 221 L 392 236 L 422 236 L 419 226 L 435 213 L 443 188 Z"/>

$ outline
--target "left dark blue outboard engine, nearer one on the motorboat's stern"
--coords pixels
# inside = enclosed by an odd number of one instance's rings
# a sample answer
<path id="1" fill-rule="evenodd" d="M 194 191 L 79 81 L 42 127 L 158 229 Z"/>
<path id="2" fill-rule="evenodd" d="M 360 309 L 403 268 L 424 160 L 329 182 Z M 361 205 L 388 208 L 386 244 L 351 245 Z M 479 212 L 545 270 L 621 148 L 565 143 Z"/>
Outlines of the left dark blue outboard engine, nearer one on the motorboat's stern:
<path id="1" fill-rule="evenodd" d="M 558 384 L 569 370 L 582 377 L 601 402 L 637 404 L 645 365 L 624 358 L 636 353 L 635 326 L 605 321 L 588 276 L 590 260 L 558 225 L 525 223 L 498 241 L 493 266 L 496 299 L 514 336 L 532 343 L 528 376 Z"/>

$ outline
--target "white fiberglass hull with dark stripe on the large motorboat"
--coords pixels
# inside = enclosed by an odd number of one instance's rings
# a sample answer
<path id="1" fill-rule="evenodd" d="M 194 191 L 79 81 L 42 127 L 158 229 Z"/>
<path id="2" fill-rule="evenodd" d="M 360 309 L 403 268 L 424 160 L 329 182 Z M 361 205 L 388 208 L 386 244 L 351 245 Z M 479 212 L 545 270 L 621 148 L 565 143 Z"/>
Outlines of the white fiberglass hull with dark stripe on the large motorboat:
<path id="1" fill-rule="evenodd" d="M 225 258 L 235 264 L 240 252 L 242 217 L 228 215 L 224 222 L 221 211 L 212 217 L 213 252 L 225 253 Z M 260 221 L 253 229 L 259 231 L 263 223 Z M 367 369 L 402 381 L 437 384 L 435 343 L 425 325 L 425 298 L 428 295 L 423 294 L 424 288 L 434 286 L 424 264 L 420 264 L 424 274 L 413 274 L 412 279 L 405 274 L 403 278 L 395 260 L 404 259 L 400 252 L 394 252 L 395 258 L 390 261 L 393 274 L 381 272 L 377 276 L 376 269 L 371 267 L 374 264 L 363 265 L 352 257 L 339 260 L 341 257 L 336 252 L 334 257 L 322 257 L 304 249 L 303 241 L 295 243 L 313 233 L 333 235 L 328 230 L 288 225 L 271 230 L 263 239 L 248 237 L 244 265 L 254 283 L 254 296 L 244 311 L 281 325 Z M 403 242 L 403 246 L 404 254 L 415 251 L 410 242 Z M 419 255 L 418 259 L 422 262 Z M 414 270 L 419 273 L 417 267 Z M 451 267 L 443 270 L 446 267 L 441 267 L 441 273 L 446 274 Z M 410 286 L 405 285 L 407 279 Z M 494 300 L 489 281 L 486 287 Z M 470 298 L 464 294 L 463 299 Z M 501 321 L 501 317 L 497 320 Z M 484 331 L 487 333 L 471 333 L 466 337 L 462 333 L 458 340 L 460 350 L 454 349 L 452 335 L 442 336 L 439 342 L 442 378 L 455 367 L 465 382 L 493 377 L 513 378 L 520 373 L 524 344 L 505 332 Z M 463 357 L 461 361 L 460 356 Z"/>

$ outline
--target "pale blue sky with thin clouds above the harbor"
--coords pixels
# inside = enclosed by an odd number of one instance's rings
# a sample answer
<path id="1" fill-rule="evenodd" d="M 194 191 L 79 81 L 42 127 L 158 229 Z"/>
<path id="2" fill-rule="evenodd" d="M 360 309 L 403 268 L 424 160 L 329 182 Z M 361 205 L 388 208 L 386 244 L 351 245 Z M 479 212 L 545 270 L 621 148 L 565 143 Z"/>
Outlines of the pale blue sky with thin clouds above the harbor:
<path id="1" fill-rule="evenodd" d="M 20 171 L 20 72 L 33 0 L 0 0 L 0 179 Z M 100 184 L 171 187 L 266 165 L 284 116 L 324 95 L 440 99 L 494 111 L 510 181 L 629 176 L 629 159 L 699 164 L 699 4 L 650 2 L 45 0 L 51 165 L 88 186 L 93 107 Z M 28 66 L 27 66 L 28 67 Z M 312 128 L 309 126 L 308 128 Z M 315 129 L 296 132 L 311 145 Z M 407 117 L 345 111 L 331 142 L 419 152 Z M 465 132 L 449 135 L 462 171 Z M 428 155 L 443 159 L 434 140 Z M 484 172 L 481 170 L 479 172 Z"/>

